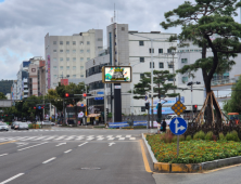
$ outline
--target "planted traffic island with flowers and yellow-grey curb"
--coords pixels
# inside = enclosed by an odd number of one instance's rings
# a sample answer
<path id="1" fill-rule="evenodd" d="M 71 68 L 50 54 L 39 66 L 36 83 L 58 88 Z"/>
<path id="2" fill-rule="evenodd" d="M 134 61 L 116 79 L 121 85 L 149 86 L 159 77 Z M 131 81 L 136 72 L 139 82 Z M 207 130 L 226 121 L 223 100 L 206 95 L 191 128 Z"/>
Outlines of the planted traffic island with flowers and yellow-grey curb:
<path id="1" fill-rule="evenodd" d="M 147 139 L 147 136 L 149 137 Z M 241 163 L 240 142 L 182 140 L 180 142 L 180 155 L 179 157 L 176 157 L 175 143 L 172 142 L 163 143 L 161 136 L 164 135 L 142 134 L 142 139 L 152 158 L 153 168 L 155 172 L 167 172 L 167 173 L 203 172 L 206 170 Z M 199 148 L 199 150 L 196 150 L 196 147 Z M 210 154 L 205 155 L 205 153 Z M 229 158 L 221 158 L 221 157 L 229 157 Z M 216 158 L 221 158 L 221 159 L 216 159 Z M 166 162 L 163 162 L 161 160 L 164 160 Z"/>

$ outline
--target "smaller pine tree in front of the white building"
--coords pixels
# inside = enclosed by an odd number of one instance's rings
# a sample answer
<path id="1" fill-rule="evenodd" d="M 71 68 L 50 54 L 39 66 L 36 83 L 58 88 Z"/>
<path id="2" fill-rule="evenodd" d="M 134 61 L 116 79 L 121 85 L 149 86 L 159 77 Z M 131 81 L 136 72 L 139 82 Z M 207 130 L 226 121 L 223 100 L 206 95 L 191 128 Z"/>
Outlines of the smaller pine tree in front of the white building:
<path id="1" fill-rule="evenodd" d="M 170 90 L 175 90 L 177 87 L 173 83 L 166 82 L 170 79 L 174 79 L 175 74 L 169 74 L 168 70 L 153 70 L 153 92 L 154 97 L 175 97 L 179 93 L 170 93 Z M 144 98 L 147 92 L 151 91 L 151 73 L 144 73 L 143 77 L 140 79 L 140 82 L 134 87 L 134 98 Z M 129 91 L 131 92 L 131 91 Z"/>

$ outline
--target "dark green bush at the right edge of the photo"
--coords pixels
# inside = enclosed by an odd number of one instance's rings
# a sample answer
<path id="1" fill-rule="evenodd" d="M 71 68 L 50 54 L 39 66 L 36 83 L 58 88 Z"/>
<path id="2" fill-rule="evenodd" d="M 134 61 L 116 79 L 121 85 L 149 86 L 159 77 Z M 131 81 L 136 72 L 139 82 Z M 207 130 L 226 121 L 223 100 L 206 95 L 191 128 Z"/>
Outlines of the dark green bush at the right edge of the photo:
<path id="1" fill-rule="evenodd" d="M 224 110 L 227 114 L 241 114 L 241 76 L 239 77 L 238 82 L 234 84 L 233 91 L 231 93 L 231 98 L 225 103 Z"/>

